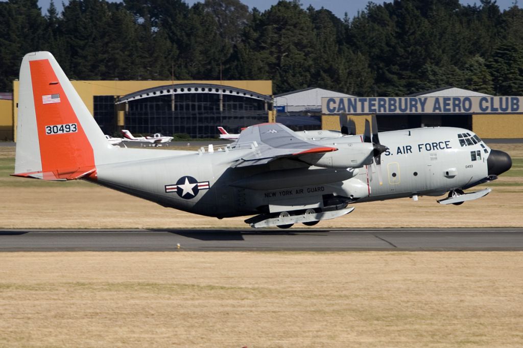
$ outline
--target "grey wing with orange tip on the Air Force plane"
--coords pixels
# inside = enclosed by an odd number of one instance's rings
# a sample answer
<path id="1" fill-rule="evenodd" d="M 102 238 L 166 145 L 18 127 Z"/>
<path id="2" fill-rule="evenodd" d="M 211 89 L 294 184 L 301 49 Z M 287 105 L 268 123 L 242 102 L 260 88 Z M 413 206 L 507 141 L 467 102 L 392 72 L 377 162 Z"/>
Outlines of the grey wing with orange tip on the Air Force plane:
<path id="1" fill-rule="evenodd" d="M 236 144 L 253 144 L 253 152 L 237 160 L 232 167 L 256 166 L 278 158 L 299 158 L 306 154 L 336 151 L 337 148 L 305 141 L 295 136 L 288 127 L 279 123 L 263 123 L 242 131 Z"/>

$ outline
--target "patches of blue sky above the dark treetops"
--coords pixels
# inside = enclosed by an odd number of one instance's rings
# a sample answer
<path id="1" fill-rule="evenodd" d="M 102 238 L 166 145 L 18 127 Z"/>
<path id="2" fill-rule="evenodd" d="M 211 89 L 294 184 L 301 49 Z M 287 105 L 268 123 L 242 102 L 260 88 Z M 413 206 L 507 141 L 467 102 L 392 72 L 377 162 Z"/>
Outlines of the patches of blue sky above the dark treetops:
<path id="1" fill-rule="evenodd" d="M 54 5 L 60 12 L 62 10 L 62 1 L 67 3 L 68 0 L 54 0 Z M 109 0 L 111 2 L 117 2 L 118 0 Z M 44 14 L 47 13 L 47 8 L 51 0 L 38 0 L 38 5 L 42 8 Z M 186 3 L 192 5 L 198 0 L 185 0 Z M 203 2 L 200 0 L 200 2 Z M 261 11 L 268 9 L 270 6 L 278 3 L 278 0 L 241 0 L 241 2 L 249 7 L 249 9 L 256 7 Z M 384 1 L 374 0 L 377 4 L 382 4 Z M 392 0 L 386 1 L 392 2 Z M 316 9 L 322 7 L 331 10 L 337 17 L 342 18 L 345 16 L 345 13 L 349 15 L 349 18 L 353 18 L 358 13 L 358 10 L 363 10 L 369 3 L 369 0 L 301 0 L 303 8 L 309 7 L 312 5 Z M 460 0 L 462 4 L 480 4 L 479 0 Z M 497 0 L 497 4 L 501 10 L 509 8 L 514 3 L 514 0 Z"/>

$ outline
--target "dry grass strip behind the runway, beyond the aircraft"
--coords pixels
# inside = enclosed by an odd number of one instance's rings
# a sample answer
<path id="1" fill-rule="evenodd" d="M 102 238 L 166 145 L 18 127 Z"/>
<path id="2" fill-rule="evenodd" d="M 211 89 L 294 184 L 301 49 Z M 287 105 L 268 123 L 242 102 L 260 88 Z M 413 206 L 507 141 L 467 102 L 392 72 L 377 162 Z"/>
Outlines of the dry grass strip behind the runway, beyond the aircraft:
<path id="1" fill-rule="evenodd" d="M 523 144 L 492 147 L 507 151 L 514 165 L 498 180 L 484 185 L 493 191 L 483 199 L 460 206 L 440 205 L 436 197 L 356 204 L 353 213 L 316 227 L 523 226 Z M 9 177 L 14 170 L 13 158 L 14 148 L 0 147 L 0 227 L 248 228 L 242 217 L 219 220 L 184 213 L 88 182 Z M 378 218 L 376 212 L 381 212 Z"/>

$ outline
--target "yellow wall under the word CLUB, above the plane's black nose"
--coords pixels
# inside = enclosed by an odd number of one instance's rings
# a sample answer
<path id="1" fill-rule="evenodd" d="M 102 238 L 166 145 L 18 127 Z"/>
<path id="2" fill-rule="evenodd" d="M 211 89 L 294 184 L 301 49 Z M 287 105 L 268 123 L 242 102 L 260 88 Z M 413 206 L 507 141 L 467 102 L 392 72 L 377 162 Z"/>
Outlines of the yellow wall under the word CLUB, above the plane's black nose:
<path id="1" fill-rule="evenodd" d="M 523 138 L 523 115 L 472 115 L 472 130 L 480 138 Z"/>

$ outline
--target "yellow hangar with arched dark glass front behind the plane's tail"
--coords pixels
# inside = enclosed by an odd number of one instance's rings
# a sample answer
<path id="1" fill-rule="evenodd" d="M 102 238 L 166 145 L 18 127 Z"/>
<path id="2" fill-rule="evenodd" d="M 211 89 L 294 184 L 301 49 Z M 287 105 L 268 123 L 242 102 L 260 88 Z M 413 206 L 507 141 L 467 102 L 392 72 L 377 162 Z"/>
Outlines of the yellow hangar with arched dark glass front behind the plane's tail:
<path id="1" fill-rule="evenodd" d="M 217 126 L 230 133 L 241 127 L 274 122 L 272 82 L 233 81 L 74 81 L 71 83 L 105 134 L 131 133 L 194 138 L 216 137 Z M 18 81 L 13 100 L 0 103 L 0 131 L 16 141 Z M 5 124 L 5 125 L 4 125 Z M 1 139 L 0 139 L 1 140 Z"/>

